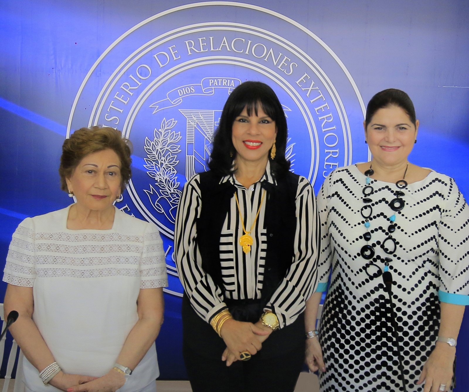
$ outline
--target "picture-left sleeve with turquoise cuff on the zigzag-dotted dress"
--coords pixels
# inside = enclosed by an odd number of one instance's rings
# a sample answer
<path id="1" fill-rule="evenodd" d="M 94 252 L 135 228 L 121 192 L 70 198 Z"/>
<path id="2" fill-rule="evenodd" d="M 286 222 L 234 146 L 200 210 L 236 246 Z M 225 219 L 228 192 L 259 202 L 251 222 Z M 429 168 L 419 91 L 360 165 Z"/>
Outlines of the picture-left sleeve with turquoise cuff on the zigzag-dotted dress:
<path id="1" fill-rule="evenodd" d="M 331 271 L 333 246 L 331 246 L 331 239 L 329 237 L 329 224 L 328 224 L 328 201 L 329 201 L 329 186 L 332 181 L 332 173 L 324 180 L 324 183 L 319 190 L 316 197 L 316 204 L 318 206 L 319 221 L 321 222 L 321 249 L 319 250 L 318 261 L 318 286 L 316 292 L 327 291 L 327 283 L 329 281 L 329 274 Z"/>

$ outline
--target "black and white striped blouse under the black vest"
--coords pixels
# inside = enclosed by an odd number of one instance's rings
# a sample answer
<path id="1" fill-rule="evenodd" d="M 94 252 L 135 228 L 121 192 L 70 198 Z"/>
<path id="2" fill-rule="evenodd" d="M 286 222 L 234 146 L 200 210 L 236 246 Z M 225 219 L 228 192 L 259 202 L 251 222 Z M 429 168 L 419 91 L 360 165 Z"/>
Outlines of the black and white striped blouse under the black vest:
<path id="1" fill-rule="evenodd" d="M 267 247 L 265 202 L 261 205 L 259 217 L 251 231 L 254 240 L 251 251 L 245 254 L 239 245 L 239 238 L 244 234 L 240 214 L 235 197 L 231 199 L 219 239 L 223 279 L 223 287 L 220 288 L 202 269 L 201 256 L 197 248 L 196 220 L 200 216 L 203 203 L 199 181 L 199 175 L 196 174 L 184 186 L 176 218 L 174 246 L 179 278 L 186 295 L 200 317 L 209 322 L 212 316 L 226 307 L 223 302 L 224 297 L 240 300 L 258 299 L 261 296 Z M 249 188 L 242 186 L 233 175 L 222 178 L 220 183 L 226 181 L 230 181 L 236 187 L 242 218 L 246 230 L 249 230 L 262 199 L 264 188 L 261 182 L 268 181 L 276 185 L 270 166 L 267 164 L 265 174 Z M 295 256 L 285 278 L 265 306 L 265 310 L 277 315 L 280 327 L 293 323 L 304 310 L 305 301 L 313 292 L 317 280 L 320 225 L 314 191 L 304 177 L 299 177 L 295 205 L 297 219 Z"/>

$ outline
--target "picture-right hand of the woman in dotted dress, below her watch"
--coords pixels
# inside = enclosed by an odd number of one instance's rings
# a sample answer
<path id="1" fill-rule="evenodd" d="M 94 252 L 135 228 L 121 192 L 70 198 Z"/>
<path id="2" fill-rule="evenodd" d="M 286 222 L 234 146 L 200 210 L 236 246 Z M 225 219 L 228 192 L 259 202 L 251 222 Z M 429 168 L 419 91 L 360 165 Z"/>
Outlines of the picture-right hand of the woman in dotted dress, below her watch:
<path id="1" fill-rule="evenodd" d="M 448 391 L 453 380 L 453 363 L 456 348 L 447 343 L 437 342 L 427 362 L 424 364 L 418 384 L 425 382 L 424 392 Z M 440 389 L 440 385 L 445 385 Z"/>

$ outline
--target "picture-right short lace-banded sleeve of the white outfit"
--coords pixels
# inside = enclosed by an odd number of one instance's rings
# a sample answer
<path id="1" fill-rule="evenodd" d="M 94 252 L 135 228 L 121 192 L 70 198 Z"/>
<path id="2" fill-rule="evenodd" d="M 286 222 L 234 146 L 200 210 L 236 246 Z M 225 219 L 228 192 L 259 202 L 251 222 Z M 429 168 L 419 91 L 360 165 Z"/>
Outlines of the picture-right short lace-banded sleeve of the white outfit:
<path id="1" fill-rule="evenodd" d="M 165 252 L 157 227 L 148 223 L 140 261 L 140 288 L 167 287 Z"/>

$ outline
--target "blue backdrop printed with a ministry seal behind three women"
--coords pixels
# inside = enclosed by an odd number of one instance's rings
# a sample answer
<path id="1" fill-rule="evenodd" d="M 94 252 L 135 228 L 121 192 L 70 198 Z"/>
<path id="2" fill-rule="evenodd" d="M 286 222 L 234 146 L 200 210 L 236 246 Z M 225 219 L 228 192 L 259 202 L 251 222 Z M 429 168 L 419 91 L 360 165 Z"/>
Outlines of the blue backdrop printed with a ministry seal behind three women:
<path id="1" fill-rule="evenodd" d="M 316 191 L 335 167 L 368 159 L 362 122 L 371 96 L 407 91 L 421 124 L 410 160 L 454 177 L 469 195 L 466 1 L 251 3 L 0 3 L 0 259 L 22 219 L 70 202 L 57 173 L 64 138 L 94 124 L 122 130 L 134 144 L 134 175 L 117 206 L 154 221 L 167 253 L 162 378 L 185 377 L 175 205 L 186 179 L 204 169 L 219 111 L 242 81 L 277 92 L 293 169 Z M 469 390 L 468 331 L 466 315 L 459 391 Z"/>

